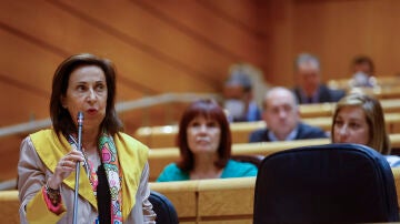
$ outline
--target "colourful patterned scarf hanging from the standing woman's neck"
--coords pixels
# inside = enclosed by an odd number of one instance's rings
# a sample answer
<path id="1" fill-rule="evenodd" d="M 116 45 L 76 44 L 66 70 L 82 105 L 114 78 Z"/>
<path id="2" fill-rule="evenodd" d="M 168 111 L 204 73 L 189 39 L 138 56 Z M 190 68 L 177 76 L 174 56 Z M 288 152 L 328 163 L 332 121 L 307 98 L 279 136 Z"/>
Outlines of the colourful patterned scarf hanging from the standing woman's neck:
<path id="1" fill-rule="evenodd" d="M 78 143 L 73 135 L 69 135 L 68 141 L 77 149 Z M 104 166 L 111 193 L 111 223 L 122 224 L 122 174 L 119 169 L 117 147 L 112 136 L 103 132 L 99 138 L 98 149 L 101 154 L 101 163 Z M 96 174 L 96 167 L 93 167 L 91 161 L 89 161 L 86 155 L 84 160 L 83 166 L 87 171 L 90 184 L 92 185 L 93 193 L 97 195 L 98 176 Z"/>

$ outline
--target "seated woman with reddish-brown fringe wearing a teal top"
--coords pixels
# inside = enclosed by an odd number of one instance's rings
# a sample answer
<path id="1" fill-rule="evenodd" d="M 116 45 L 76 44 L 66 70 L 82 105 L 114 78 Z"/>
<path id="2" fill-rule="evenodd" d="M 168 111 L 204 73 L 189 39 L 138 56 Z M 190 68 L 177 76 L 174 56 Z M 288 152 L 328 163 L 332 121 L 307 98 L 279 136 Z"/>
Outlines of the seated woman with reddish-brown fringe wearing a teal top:
<path id="1" fill-rule="evenodd" d="M 167 165 L 158 182 L 257 175 L 256 165 L 230 160 L 229 123 L 213 100 L 199 100 L 187 108 L 177 142 L 181 160 Z"/>

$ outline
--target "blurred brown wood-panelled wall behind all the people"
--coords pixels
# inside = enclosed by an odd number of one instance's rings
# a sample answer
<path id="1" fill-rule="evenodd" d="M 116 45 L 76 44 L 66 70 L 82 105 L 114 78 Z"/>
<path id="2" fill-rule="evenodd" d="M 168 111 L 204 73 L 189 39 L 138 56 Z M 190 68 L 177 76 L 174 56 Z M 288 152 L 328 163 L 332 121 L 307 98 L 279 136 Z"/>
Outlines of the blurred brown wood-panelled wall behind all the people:
<path id="1" fill-rule="evenodd" d="M 232 64 L 289 88 L 300 52 L 320 58 L 324 82 L 350 78 L 357 54 L 373 59 L 376 77 L 397 75 L 399 11 L 398 0 L 1 0 L 0 181 L 16 176 L 29 133 L 12 128 L 46 121 L 53 72 L 71 54 L 114 62 L 133 134 L 178 121 L 184 100 L 172 93 L 220 95 Z M 151 106 L 133 103 L 147 98 Z"/>

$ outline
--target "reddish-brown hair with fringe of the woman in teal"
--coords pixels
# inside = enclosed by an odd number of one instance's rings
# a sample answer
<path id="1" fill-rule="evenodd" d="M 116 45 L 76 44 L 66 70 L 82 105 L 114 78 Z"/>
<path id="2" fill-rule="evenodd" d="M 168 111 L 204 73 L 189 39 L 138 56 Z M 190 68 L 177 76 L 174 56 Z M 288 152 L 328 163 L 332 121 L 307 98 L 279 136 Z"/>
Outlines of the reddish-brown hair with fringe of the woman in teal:
<path id="1" fill-rule="evenodd" d="M 217 167 L 223 169 L 231 155 L 231 132 L 229 123 L 222 108 L 213 100 L 198 100 L 191 103 L 183 112 L 179 123 L 177 143 L 181 154 L 181 161 L 177 163 L 183 171 L 191 171 L 194 167 L 193 153 L 188 144 L 188 125 L 197 116 L 216 120 L 221 128 L 221 138 L 218 146 L 218 160 L 214 162 Z"/>

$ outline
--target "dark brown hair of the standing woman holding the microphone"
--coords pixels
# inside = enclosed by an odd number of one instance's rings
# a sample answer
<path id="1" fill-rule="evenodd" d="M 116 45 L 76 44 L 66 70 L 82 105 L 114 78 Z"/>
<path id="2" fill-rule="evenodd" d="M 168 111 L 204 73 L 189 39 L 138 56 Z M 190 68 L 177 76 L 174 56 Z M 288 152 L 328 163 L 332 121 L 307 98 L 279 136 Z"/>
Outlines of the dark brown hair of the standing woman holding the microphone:
<path id="1" fill-rule="evenodd" d="M 52 90 L 50 99 L 50 116 L 52 126 L 59 135 L 76 133 L 77 126 L 67 109 L 62 106 L 61 99 L 66 96 L 69 78 L 71 73 L 82 65 L 99 67 L 106 75 L 107 82 L 107 106 L 106 116 L 100 124 L 100 130 L 106 130 L 109 134 L 116 134 L 122 130 L 122 123 L 117 116 L 114 109 L 116 102 L 116 69 L 108 59 L 102 59 L 90 53 L 74 54 L 66 59 L 57 68 L 52 80 Z"/>

